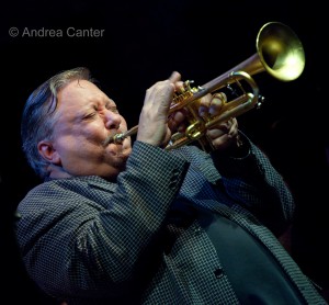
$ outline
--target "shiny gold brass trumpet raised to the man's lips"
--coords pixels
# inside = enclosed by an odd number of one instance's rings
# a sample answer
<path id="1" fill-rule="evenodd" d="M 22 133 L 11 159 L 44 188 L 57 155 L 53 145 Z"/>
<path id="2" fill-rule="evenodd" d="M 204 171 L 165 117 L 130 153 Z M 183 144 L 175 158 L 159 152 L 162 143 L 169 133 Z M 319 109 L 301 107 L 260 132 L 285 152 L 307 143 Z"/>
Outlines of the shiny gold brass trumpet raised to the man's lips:
<path id="1" fill-rule="evenodd" d="M 256 39 L 257 52 L 220 75 L 212 81 L 201 86 L 191 87 L 193 81 L 185 81 L 182 92 L 175 93 L 170 105 L 169 114 L 186 109 L 189 113 L 189 126 L 183 133 L 172 135 L 166 150 L 174 149 L 197 140 L 204 150 L 212 146 L 206 138 L 206 131 L 216 124 L 220 124 L 237 117 L 253 108 L 260 108 L 263 97 L 259 93 L 259 87 L 252 76 L 266 71 L 270 76 L 281 81 L 297 79 L 305 67 L 305 53 L 303 44 L 295 32 L 281 22 L 265 23 L 258 32 Z M 218 92 L 236 84 L 241 92 L 230 101 L 224 102 L 219 114 L 204 118 L 198 115 L 200 100 L 208 93 Z M 249 91 L 243 87 L 248 86 Z M 114 135 L 112 142 L 122 143 L 124 138 L 136 134 L 138 125 L 126 133 Z"/>

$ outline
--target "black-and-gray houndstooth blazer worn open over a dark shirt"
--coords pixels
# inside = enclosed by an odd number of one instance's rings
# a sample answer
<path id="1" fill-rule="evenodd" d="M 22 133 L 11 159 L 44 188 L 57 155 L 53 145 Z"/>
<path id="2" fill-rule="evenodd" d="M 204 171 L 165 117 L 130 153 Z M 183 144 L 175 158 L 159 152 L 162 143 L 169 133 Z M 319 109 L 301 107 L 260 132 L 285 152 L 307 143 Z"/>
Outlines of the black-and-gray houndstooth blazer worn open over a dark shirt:
<path id="1" fill-rule="evenodd" d="M 200 223 L 206 210 L 259 239 L 305 304 L 327 304 L 275 237 L 293 217 L 293 197 L 248 143 L 249 155 L 234 159 L 135 142 L 116 183 L 75 177 L 37 185 L 18 207 L 30 276 L 69 305 L 239 304 Z"/>

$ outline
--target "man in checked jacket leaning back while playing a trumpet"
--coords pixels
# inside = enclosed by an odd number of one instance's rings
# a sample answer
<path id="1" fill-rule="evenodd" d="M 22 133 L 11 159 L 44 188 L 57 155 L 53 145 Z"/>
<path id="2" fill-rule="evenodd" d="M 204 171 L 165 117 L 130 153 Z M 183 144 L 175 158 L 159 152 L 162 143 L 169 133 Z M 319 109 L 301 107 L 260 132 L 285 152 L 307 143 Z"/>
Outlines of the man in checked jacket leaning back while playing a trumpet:
<path id="1" fill-rule="evenodd" d="M 184 128 L 184 111 L 169 115 L 182 86 L 173 72 L 147 90 L 133 147 L 112 140 L 126 122 L 87 69 L 31 94 L 23 149 L 45 181 L 18 207 L 30 276 L 69 305 L 326 304 L 276 239 L 292 194 L 236 118 L 207 131 L 209 154 L 163 149 Z"/>

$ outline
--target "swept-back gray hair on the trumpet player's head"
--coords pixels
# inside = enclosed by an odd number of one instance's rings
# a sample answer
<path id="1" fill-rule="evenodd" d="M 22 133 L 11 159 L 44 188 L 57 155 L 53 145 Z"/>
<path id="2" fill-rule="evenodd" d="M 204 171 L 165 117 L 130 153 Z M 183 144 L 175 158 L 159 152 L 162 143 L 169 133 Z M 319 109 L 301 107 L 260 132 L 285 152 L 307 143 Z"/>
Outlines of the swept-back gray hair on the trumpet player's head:
<path id="1" fill-rule="evenodd" d="M 73 80 L 80 79 L 93 82 L 87 68 L 61 71 L 34 90 L 25 103 L 21 121 L 22 149 L 29 165 L 42 179 L 49 174 L 47 172 L 49 163 L 38 152 L 37 144 L 43 139 L 52 139 L 58 91 Z"/>

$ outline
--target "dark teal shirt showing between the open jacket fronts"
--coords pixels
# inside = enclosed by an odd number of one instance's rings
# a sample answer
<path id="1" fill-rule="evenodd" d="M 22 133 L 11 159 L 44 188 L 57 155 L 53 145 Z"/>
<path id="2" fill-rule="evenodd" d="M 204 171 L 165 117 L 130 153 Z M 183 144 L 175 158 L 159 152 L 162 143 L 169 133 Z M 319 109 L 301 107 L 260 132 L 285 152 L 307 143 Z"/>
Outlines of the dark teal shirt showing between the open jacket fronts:
<path id="1" fill-rule="evenodd" d="M 202 217 L 223 263 L 222 272 L 227 274 L 241 304 L 303 304 L 296 287 L 256 238 L 218 214 Z"/>

